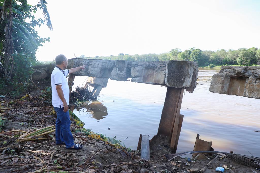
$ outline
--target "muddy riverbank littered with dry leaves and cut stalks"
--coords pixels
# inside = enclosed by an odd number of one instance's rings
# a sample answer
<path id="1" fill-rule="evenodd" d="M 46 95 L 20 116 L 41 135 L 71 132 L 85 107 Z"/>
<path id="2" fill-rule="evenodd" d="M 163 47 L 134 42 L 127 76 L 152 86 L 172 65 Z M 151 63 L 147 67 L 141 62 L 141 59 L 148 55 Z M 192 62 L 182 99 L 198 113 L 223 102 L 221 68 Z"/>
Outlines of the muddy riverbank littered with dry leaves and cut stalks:
<path id="1" fill-rule="evenodd" d="M 0 172 L 198 172 L 213 156 L 188 162 L 186 158 L 167 161 L 158 149 L 168 146 L 158 144 L 151 150 L 151 159 L 140 158 L 140 151 L 93 139 L 83 132 L 73 132 L 81 150 L 67 150 L 65 145 L 55 145 L 56 115 L 43 98 L 41 91 L 28 93 L 23 99 L 6 96 L 0 98 Z M 21 97 L 20 97 L 21 98 Z M 44 128 L 47 127 L 47 128 Z M 82 127 L 71 125 L 71 130 Z M 37 133 L 37 129 L 43 129 Z M 36 131 L 36 133 L 35 133 Z M 30 135 L 29 135 L 30 134 Z M 28 137 L 29 136 L 29 137 Z M 160 145 L 160 146 L 159 146 Z M 206 173 L 215 172 L 216 167 L 230 165 L 234 168 L 225 172 L 257 172 L 254 168 L 241 165 L 230 158 L 219 156 Z M 188 162 L 188 163 L 186 163 Z"/>

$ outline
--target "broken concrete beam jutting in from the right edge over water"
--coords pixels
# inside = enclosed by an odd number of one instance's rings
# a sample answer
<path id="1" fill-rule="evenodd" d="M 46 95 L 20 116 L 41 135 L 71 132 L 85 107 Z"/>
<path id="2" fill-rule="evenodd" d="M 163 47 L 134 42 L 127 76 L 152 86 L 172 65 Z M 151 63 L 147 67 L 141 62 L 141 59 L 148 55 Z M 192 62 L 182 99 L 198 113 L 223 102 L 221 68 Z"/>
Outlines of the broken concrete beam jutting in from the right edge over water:
<path id="1" fill-rule="evenodd" d="M 209 91 L 260 99 L 260 66 L 222 66 Z"/>

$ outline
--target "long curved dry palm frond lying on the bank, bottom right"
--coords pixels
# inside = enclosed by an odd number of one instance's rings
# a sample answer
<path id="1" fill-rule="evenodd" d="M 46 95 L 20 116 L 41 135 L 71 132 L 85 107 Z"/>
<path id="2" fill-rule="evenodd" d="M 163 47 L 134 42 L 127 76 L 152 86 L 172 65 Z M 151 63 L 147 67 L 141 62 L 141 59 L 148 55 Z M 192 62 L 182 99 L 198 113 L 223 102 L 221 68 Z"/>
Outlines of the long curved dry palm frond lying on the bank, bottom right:
<path id="1" fill-rule="evenodd" d="M 221 152 L 221 151 L 188 151 L 188 152 L 182 152 L 182 153 L 177 153 L 177 154 L 169 154 L 166 155 L 166 158 L 168 161 L 171 161 L 172 159 L 187 155 L 187 154 L 193 154 L 193 153 L 219 153 L 219 154 L 225 154 L 227 157 L 234 159 L 235 161 L 246 165 L 250 166 L 253 168 L 260 168 L 260 157 L 253 157 L 253 156 L 245 156 L 245 155 L 240 155 L 240 154 L 235 154 L 235 153 L 228 153 L 228 152 Z"/>

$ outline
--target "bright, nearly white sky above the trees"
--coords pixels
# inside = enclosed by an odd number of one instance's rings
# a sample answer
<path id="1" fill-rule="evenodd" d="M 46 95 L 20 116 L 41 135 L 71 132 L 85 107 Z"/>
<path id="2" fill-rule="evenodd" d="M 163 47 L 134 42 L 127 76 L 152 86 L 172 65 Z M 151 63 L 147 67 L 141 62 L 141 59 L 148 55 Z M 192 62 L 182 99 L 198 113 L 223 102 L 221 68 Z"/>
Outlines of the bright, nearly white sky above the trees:
<path id="1" fill-rule="evenodd" d="M 28 0 L 31 5 L 35 0 Z M 190 47 L 202 50 L 258 47 L 258 0 L 47 0 L 53 31 L 37 28 L 50 37 L 37 50 L 39 61 L 59 54 L 110 56 L 164 53 Z M 38 11 L 36 17 L 41 17 Z"/>

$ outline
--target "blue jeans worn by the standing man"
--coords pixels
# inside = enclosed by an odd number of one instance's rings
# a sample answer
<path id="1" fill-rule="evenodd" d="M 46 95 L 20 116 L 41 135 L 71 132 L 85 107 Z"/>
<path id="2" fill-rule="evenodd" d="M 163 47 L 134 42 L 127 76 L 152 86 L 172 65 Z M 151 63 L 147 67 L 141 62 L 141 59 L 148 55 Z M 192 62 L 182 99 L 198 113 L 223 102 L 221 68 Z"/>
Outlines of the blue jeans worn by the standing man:
<path id="1" fill-rule="evenodd" d="M 54 107 L 57 113 L 56 120 L 56 144 L 65 143 L 66 148 L 73 147 L 74 139 L 70 132 L 69 111 L 64 112 L 64 107 Z"/>

